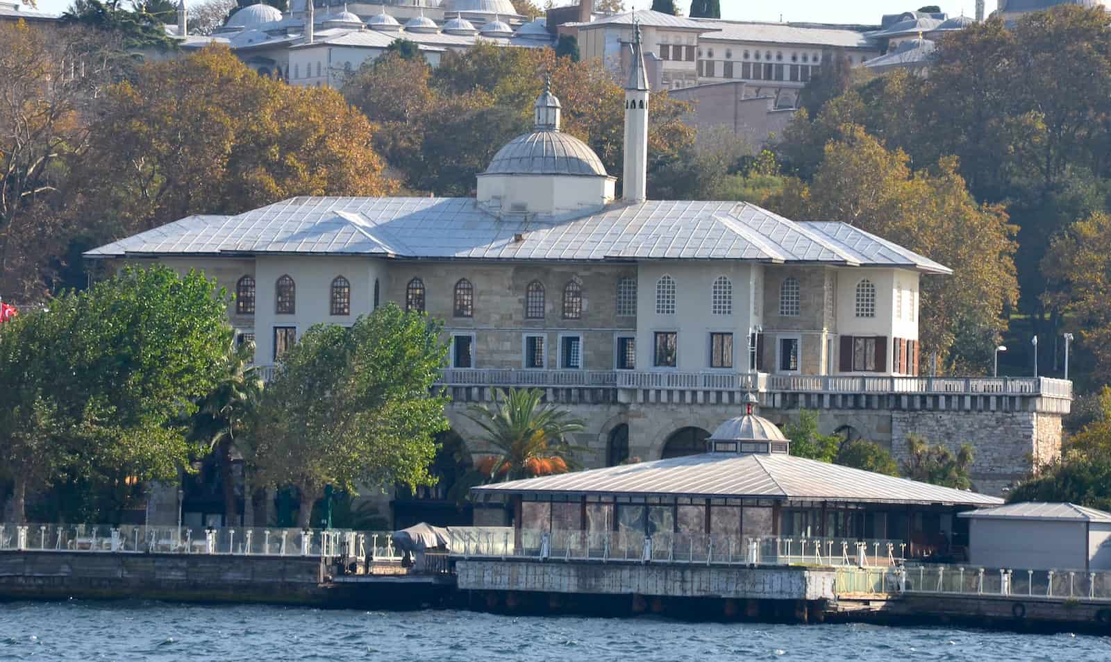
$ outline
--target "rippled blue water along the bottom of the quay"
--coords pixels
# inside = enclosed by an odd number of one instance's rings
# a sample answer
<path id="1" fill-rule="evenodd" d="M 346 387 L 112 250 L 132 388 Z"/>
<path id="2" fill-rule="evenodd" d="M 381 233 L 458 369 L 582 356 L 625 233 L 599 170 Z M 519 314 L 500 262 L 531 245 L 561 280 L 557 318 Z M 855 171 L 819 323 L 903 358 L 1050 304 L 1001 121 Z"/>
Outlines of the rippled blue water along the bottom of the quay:
<path id="1" fill-rule="evenodd" d="M 0 604 L 0 660 L 1105 661 L 1111 638 L 156 602 Z"/>

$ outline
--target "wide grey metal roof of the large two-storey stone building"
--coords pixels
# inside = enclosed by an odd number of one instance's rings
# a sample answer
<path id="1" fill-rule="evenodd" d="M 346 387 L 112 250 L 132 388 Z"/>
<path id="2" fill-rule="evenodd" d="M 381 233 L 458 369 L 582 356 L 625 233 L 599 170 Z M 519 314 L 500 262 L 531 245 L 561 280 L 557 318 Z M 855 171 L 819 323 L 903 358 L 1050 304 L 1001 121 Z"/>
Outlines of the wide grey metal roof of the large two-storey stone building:
<path id="1" fill-rule="evenodd" d="M 523 241 L 514 241 L 522 234 Z M 951 273 L 851 225 L 789 221 L 733 201 L 615 202 L 574 218 L 497 217 L 473 198 L 291 198 L 192 215 L 86 255 L 314 253 L 486 260 L 729 259 Z"/>

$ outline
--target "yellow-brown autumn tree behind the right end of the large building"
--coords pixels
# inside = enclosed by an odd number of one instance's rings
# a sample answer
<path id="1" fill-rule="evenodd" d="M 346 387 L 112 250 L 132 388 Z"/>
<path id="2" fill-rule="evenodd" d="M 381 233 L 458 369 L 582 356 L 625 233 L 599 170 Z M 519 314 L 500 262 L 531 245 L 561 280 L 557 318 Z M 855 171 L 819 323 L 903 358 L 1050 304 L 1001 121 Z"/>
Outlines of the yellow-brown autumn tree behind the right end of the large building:
<path id="1" fill-rule="evenodd" d="M 841 221 L 893 241 L 953 270 L 924 275 L 919 337 L 942 368 L 983 371 L 1017 297 L 1014 229 L 998 205 L 979 204 L 955 159 L 912 171 L 854 124 L 825 146 L 810 183 L 788 185 L 769 205 L 789 218 Z"/>

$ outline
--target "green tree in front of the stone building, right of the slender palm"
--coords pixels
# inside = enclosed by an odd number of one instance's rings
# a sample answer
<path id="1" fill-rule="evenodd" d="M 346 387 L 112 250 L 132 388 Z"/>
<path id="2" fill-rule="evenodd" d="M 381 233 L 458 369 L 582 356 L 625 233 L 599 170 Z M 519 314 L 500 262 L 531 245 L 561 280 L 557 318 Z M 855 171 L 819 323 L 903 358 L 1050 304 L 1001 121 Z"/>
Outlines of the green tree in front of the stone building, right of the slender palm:
<path id="1" fill-rule="evenodd" d="M 317 324 L 280 359 L 253 439 L 258 480 L 293 485 L 298 525 L 333 485 L 430 484 L 447 399 L 429 392 L 447 357 L 439 324 L 387 304 L 350 328 Z"/>

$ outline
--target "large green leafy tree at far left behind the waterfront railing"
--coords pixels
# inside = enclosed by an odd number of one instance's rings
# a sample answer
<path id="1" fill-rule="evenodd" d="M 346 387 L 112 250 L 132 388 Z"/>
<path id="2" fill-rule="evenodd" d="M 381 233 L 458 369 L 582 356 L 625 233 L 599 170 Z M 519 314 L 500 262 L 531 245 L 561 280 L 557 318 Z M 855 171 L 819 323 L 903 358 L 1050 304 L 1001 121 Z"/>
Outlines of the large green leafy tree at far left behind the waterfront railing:
<path id="1" fill-rule="evenodd" d="M 203 277 L 126 269 L 0 330 L 0 460 L 17 521 L 28 487 L 106 474 L 170 480 L 189 461 L 182 413 L 216 383 L 227 298 Z"/>

